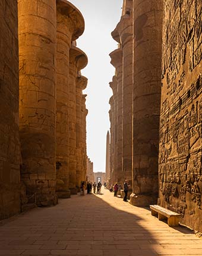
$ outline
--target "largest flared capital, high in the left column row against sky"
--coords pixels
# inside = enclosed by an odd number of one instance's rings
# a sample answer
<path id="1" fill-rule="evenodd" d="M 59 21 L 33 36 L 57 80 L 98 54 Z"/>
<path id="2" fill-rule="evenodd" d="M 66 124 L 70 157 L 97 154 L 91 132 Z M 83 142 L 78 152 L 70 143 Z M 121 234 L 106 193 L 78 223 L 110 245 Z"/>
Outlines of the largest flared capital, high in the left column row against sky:
<path id="1" fill-rule="evenodd" d="M 66 15 L 72 21 L 74 31 L 72 33 L 72 40 L 78 39 L 84 32 L 85 21 L 80 11 L 67 0 L 57 0 L 57 10 Z"/>

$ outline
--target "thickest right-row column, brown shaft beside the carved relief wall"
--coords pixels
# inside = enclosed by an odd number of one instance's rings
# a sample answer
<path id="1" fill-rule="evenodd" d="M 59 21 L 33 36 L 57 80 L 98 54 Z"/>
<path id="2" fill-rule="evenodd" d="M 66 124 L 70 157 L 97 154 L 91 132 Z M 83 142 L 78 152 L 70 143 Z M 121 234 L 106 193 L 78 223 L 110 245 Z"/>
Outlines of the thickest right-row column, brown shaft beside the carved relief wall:
<path id="1" fill-rule="evenodd" d="M 162 59 L 162 0 L 133 1 L 133 194 L 131 204 L 155 204 Z"/>

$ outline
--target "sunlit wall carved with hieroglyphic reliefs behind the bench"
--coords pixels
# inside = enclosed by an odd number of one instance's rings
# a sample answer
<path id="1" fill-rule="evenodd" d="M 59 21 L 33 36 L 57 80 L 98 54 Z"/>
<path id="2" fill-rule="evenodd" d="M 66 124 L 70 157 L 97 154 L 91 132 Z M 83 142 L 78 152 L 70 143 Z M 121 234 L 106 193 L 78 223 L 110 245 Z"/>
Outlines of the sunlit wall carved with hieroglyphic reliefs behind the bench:
<path id="1" fill-rule="evenodd" d="M 159 203 L 202 232 L 200 0 L 165 1 Z"/>

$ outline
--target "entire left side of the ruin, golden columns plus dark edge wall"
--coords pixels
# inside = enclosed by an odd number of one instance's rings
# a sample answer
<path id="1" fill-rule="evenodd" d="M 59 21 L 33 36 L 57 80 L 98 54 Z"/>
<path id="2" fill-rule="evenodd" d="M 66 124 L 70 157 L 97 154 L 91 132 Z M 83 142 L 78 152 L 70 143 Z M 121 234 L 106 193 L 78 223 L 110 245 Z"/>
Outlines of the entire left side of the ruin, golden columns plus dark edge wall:
<path id="1" fill-rule="evenodd" d="M 0 3 L 0 219 L 86 180 L 84 18 L 66 0 Z M 19 106 L 19 107 L 18 107 Z"/>

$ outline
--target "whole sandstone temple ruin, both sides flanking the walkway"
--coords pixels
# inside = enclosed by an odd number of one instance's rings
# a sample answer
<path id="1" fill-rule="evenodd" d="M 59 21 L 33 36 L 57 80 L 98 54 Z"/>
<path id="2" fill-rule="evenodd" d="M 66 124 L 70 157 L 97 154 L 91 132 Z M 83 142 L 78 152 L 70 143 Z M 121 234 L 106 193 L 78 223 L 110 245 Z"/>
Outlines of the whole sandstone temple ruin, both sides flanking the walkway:
<path id="1" fill-rule="evenodd" d="M 0 220 L 55 205 L 83 180 L 128 180 L 132 205 L 158 204 L 202 232 L 201 10 L 123 1 L 105 175 L 87 158 L 83 15 L 66 0 L 0 1 Z"/>

